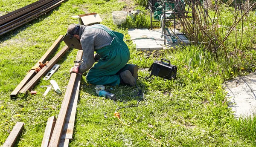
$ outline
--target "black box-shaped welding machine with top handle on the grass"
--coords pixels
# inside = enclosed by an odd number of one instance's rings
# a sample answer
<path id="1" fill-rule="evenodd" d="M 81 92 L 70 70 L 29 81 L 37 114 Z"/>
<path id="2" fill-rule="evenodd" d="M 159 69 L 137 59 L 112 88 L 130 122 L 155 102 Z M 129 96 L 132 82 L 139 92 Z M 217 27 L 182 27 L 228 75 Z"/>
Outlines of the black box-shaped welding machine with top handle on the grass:
<path id="1" fill-rule="evenodd" d="M 175 79 L 177 74 L 177 66 L 172 65 L 169 60 L 162 58 L 160 61 L 154 61 L 148 71 L 151 71 L 151 74 L 147 78 L 155 75 L 164 79 Z"/>

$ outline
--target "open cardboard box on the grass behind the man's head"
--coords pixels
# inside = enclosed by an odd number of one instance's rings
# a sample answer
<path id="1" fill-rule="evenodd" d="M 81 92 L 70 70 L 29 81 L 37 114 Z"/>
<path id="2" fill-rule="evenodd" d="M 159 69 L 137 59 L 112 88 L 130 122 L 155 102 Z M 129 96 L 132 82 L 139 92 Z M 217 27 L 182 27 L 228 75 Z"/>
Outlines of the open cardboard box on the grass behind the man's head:
<path id="1" fill-rule="evenodd" d="M 78 18 L 80 25 L 93 25 L 102 22 L 101 17 L 97 13 L 81 14 L 72 17 Z"/>

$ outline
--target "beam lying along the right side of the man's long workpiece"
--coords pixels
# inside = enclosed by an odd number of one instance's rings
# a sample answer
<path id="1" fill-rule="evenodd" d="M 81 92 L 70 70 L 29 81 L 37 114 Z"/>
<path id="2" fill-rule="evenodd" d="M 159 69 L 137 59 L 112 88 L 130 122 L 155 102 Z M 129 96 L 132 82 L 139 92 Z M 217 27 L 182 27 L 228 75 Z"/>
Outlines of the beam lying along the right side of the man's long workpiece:
<path id="1" fill-rule="evenodd" d="M 76 106 L 79 97 L 81 75 L 76 76 L 76 83 L 70 100 L 66 121 L 62 131 L 61 139 L 72 139 L 76 119 Z"/>

